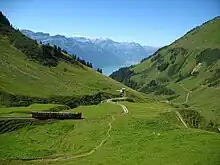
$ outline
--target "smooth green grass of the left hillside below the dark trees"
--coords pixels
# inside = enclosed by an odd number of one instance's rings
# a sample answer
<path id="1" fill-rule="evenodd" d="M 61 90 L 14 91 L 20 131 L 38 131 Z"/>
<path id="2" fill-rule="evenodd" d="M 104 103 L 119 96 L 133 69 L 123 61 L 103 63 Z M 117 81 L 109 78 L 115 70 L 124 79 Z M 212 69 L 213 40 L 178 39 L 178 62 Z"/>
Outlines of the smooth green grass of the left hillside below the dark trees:
<path id="1" fill-rule="evenodd" d="M 124 87 L 81 64 L 60 62 L 56 67 L 46 67 L 30 61 L 10 45 L 7 38 L 0 38 L 0 53 L 0 90 L 16 95 L 48 97 L 82 96 L 98 92 L 117 94 L 116 89 Z M 137 92 L 129 91 L 141 97 Z"/>

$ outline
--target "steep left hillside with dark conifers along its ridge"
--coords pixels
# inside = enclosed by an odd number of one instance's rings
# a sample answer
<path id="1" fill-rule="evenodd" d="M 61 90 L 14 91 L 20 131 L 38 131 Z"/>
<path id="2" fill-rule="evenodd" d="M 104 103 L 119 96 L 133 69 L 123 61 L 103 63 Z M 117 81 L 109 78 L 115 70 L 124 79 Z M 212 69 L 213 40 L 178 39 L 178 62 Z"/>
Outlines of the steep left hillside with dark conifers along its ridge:
<path id="1" fill-rule="evenodd" d="M 94 97 L 101 101 L 104 96 L 118 95 L 116 90 L 124 87 L 55 46 L 38 45 L 13 29 L 3 15 L 0 54 L 0 100 L 7 106 L 52 101 L 69 103 L 84 96 L 91 102 L 95 101 Z M 131 89 L 128 93 L 141 96 Z"/>

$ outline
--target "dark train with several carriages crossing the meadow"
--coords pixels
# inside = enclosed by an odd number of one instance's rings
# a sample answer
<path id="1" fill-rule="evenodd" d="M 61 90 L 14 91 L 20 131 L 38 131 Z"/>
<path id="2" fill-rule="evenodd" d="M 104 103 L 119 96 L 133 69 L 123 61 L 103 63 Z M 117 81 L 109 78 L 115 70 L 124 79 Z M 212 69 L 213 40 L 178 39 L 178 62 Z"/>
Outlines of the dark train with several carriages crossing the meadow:
<path id="1" fill-rule="evenodd" d="M 32 118 L 46 120 L 46 119 L 82 119 L 82 113 L 72 112 L 31 112 Z"/>

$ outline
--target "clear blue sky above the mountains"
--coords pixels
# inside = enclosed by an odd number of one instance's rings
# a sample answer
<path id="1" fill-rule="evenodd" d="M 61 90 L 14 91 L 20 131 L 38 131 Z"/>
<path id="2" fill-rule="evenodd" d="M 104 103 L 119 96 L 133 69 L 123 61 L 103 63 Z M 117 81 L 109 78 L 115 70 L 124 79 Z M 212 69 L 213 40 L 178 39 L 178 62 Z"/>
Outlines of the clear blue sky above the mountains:
<path id="1" fill-rule="evenodd" d="M 1 0 L 19 29 L 163 46 L 220 15 L 220 0 Z"/>

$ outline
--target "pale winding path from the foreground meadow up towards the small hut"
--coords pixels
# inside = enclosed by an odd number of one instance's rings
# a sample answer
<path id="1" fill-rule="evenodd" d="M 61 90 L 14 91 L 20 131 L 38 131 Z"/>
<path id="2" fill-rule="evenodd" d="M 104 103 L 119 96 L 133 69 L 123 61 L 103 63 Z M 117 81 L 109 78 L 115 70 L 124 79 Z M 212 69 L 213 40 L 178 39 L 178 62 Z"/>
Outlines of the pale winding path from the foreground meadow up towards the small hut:
<path id="1" fill-rule="evenodd" d="M 114 98 L 114 100 L 123 100 L 125 98 Z M 128 109 L 125 105 L 121 104 L 121 103 L 117 103 L 117 102 L 113 102 L 113 99 L 108 99 L 106 102 L 110 103 L 110 104 L 117 104 L 119 105 L 122 109 L 123 109 L 123 114 L 127 114 L 128 113 Z M 122 115 L 123 115 L 122 114 Z M 75 156 L 68 156 L 68 157 L 64 157 L 64 156 L 60 156 L 60 157 L 56 157 L 56 158 L 39 158 L 39 159 L 33 159 L 30 161 L 58 161 L 58 160 L 73 160 L 73 159 L 77 159 L 77 158 L 82 158 L 82 157 L 86 157 L 89 156 L 91 154 L 93 154 L 96 150 L 98 150 L 110 137 L 111 137 L 111 129 L 112 129 L 112 123 L 116 120 L 114 116 L 111 116 L 112 120 L 108 123 L 109 128 L 108 131 L 106 132 L 106 136 L 105 138 L 97 145 L 95 146 L 91 151 L 87 152 L 87 153 L 83 153 L 83 154 L 79 154 L 79 155 L 75 155 Z"/>

